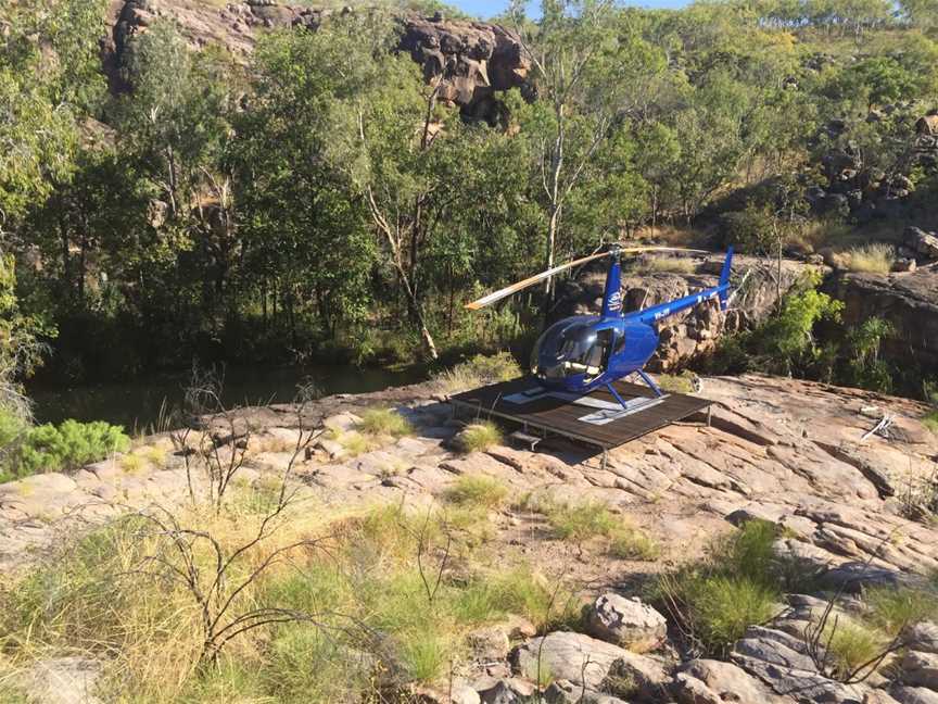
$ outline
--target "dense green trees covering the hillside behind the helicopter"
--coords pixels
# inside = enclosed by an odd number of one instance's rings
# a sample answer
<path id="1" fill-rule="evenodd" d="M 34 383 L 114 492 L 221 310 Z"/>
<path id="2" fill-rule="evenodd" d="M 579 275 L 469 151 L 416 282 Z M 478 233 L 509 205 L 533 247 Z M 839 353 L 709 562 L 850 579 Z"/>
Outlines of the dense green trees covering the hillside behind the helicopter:
<path id="1" fill-rule="evenodd" d="M 49 372 L 72 379 L 504 349 L 538 294 L 461 304 L 546 262 L 662 226 L 766 252 L 840 227 L 804 201 L 832 149 L 927 200 L 929 2 L 512 8 L 534 90 L 499 93 L 493 125 L 442 104 L 377 11 L 262 34 L 248 66 L 156 22 L 107 95 L 103 2 L 4 5 L 0 335 L 58 327 Z"/>

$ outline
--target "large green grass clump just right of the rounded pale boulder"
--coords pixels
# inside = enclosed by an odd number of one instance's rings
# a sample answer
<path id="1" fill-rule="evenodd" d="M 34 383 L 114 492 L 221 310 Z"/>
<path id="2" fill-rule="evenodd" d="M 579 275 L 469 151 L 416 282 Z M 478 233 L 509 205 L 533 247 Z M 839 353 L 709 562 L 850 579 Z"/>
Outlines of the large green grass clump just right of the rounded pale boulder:
<path id="1" fill-rule="evenodd" d="M 798 576 L 774 554 L 777 535 L 773 524 L 749 521 L 706 560 L 659 579 L 656 599 L 706 653 L 725 654 L 748 626 L 775 615 L 784 589 L 796 588 Z"/>

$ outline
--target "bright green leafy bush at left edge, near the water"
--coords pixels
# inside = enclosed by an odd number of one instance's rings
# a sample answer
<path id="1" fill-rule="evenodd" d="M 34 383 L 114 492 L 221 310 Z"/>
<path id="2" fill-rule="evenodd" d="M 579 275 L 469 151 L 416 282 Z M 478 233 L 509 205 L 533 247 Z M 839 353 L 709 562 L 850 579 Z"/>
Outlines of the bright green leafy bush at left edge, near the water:
<path id="1" fill-rule="evenodd" d="M 31 428 L 16 456 L 21 477 L 40 472 L 67 472 L 89 462 L 103 460 L 113 452 L 126 452 L 130 438 L 119 426 L 103 420 L 65 420 L 58 428 L 46 424 Z"/>

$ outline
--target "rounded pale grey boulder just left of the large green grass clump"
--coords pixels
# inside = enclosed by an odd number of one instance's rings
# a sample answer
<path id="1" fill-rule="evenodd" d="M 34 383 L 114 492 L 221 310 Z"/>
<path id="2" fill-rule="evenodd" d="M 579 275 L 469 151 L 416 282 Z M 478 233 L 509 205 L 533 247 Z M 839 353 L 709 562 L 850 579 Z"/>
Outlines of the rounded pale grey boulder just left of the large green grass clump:
<path id="1" fill-rule="evenodd" d="M 592 636 L 634 653 L 655 650 L 668 634 L 668 621 L 638 598 L 616 593 L 600 595 L 588 608 L 586 626 Z"/>

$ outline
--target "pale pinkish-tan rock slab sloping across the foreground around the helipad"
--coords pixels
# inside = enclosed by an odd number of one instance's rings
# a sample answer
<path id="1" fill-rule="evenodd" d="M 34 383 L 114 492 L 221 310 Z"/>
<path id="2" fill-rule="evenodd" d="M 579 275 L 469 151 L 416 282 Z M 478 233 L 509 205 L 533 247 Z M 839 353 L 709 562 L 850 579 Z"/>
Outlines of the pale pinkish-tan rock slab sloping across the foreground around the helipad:
<path id="1" fill-rule="evenodd" d="M 471 648 L 449 676 L 411 684 L 410 696 L 535 701 L 535 670 L 543 666 L 549 671 L 548 702 L 912 704 L 938 699 L 938 626 L 917 625 L 911 645 L 886 658 L 872 678 L 852 683 L 832 679 L 804 636 L 825 611 L 824 595 L 831 593 L 825 590 L 841 590 L 835 611 L 853 618 L 850 614 L 863 605 L 851 594 L 873 586 L 916 586 L 938 569 L 938 531 L 930 519 L 938 436 L 920 422 L 926 408 L 902 399 L 756 376 L 706 379 L 702 393 L 715 401 L 709 425 L 701 418 L 657 431 L 613 451 L 605 468 L 594 453 L 560 441 L 542 443 L 536 453 L 506 445 L 460 452 L 453 438 L 461 423 L 426 386 L 333 397 L 303 411 L 299 417 L 305 427 L 330 429 L 292 465 L 305 506 L 317 506 L 317 514 L 376 504 L 428 506 L 447 501 L 461 479 L 484 477 L 515 496 L 490 508 L 486 550 L 496 561 L 523 555 L 586 602 L 583 632 L 538 633 L 517 618 L 472 631 L 467 637 Z M 410 420 L 414 435 L 356 448 L 348 438 L 362 415 L 389 403 Z M 884 418 L 891 422 L 888 428 L 871 432 Z M 239 486 L 253 483 L 259 491 L 282 475 L 301 437 L 296 424 L 293 408 L 274 406 L 240 412 L 233 435 L 225 424 L 216 428 L 220 447 L 232 453 L 240 447 L 249 458 L 239 469 Z M 185 503 L 190 490 L 183 453 L 173 452 L 166 437 L 148 442 L 151 450 L 135 451 L 152 458 L 145 463 L 118 456 L 72 476 L 38 475 L 0 487 L 4 570 L 28 569 L 67 533 L 80 535 L 130 508 Z M 159 447 L 169 453 L 163 460 L 152 451 Z M 549 514 L 545 519 L 537 507 L 545 502 L 603 506 L 656 548 L 622 558 L 612 556 L 601 538 L 563 539 L 547 523 Z M 811 574 L 813 587 L 804 582 L 803 593 L 788 594 L 787 604 L 778 604 L 768 623 L 752 624 L 725 658 L 696 656 L 686 650 L 673 615 L 637 598 L 645 593 L 641 586 L 699 558 L 733 526 L 757 518 L 778 527 L 776 554 Z M 441 574 L 448 580 L 455 570 L 452 578 L 458 581 L 467 568 L 461 558 L 452 566 L 444 560 Z M 60 702 L 48 686 L 49 672 L 93 693 L 106 666 L 103 659 L 47 652 L 20 681 L 37 701 Z M 88 694 L 69 701 L 98 700 Z"/>

